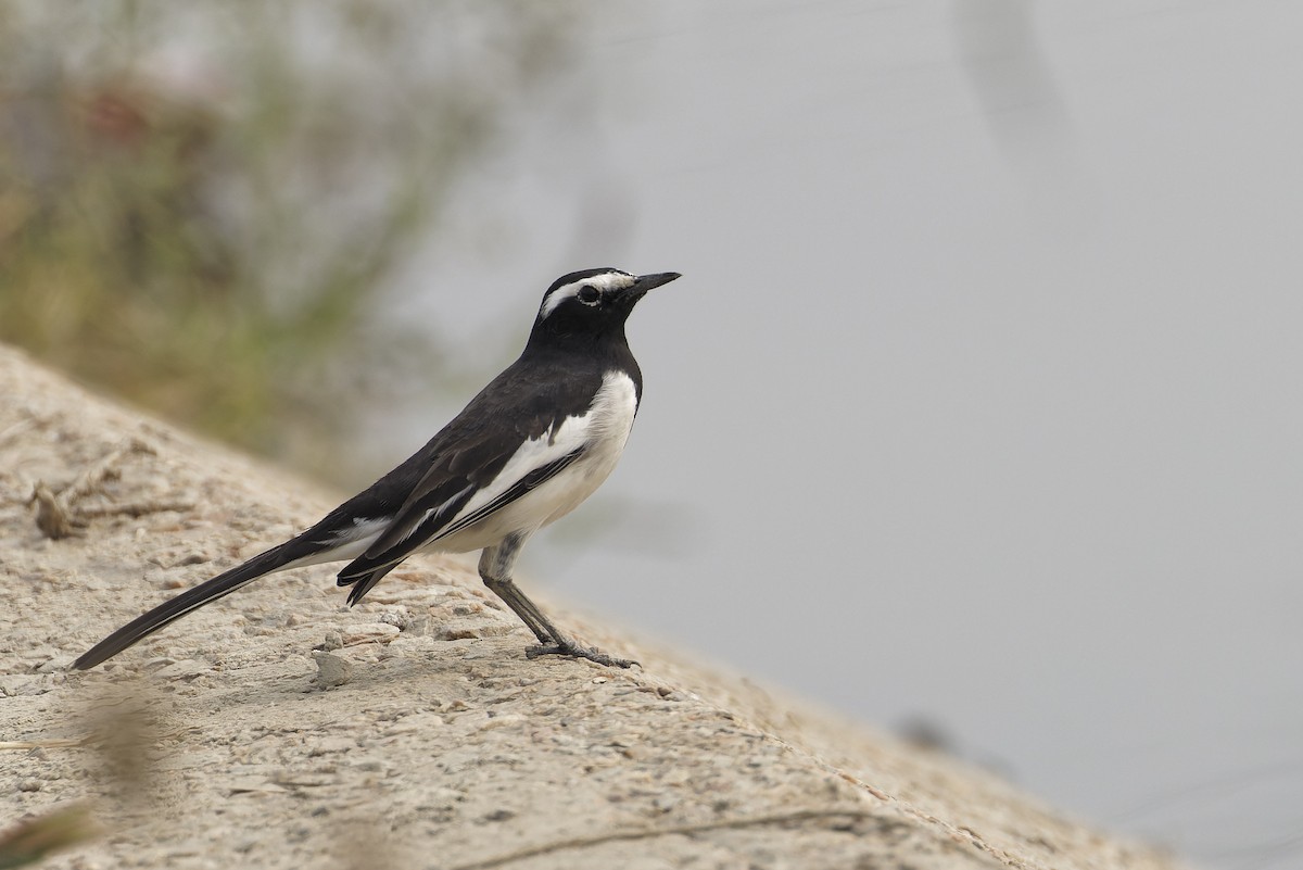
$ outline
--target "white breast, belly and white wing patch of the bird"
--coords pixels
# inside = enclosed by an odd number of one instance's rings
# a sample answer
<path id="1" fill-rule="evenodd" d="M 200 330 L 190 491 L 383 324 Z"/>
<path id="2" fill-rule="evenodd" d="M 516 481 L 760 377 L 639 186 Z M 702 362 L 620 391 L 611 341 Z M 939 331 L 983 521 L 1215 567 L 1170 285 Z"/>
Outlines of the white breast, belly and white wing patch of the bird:
<path id="1" fill-rule="evenodd" d="M 586 414 L 567 417 L 560 425 L 521 444 L 494 484 L 477 492 L 459 513 L 473 513 L 533 469 L 582 447 L 579 460 L 520 499 L 472 526 L 431 542 L 427 548 L 444 552 L 481 550 L 508 534 L 532 534 L 564 517 L 593 495 L 615 469 L 633 428 L 637 408 L 633 379 L 623 371 L 606 372 Z"/>

